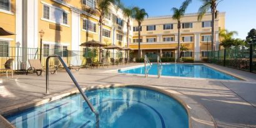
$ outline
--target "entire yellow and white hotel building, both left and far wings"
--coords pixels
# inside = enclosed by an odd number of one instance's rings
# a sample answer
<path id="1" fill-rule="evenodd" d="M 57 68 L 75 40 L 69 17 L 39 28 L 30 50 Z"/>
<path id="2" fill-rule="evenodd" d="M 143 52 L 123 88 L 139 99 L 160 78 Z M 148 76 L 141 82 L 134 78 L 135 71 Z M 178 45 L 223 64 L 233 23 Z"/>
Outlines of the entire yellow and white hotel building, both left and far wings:
<path id="1" fill-rule="evenodd" d="M 99 41 L 99 16 L 84 11 L 95 8 L 95 0 L 0 0 L 0 27 L 16 35 L 0 36 L 0 58 L 17 57 L 16 69 L 26 69 L 27 59 L 38 59 L 38 51 L 18 50 L 17 47 L 39 49 L 44 31 L 42 49 L 44 58 L 56 51 L 85 51 L 79 46 L 86 41 Z M 200 61 L 207 51 L 207 39 L 211 33 L 211 16 L 207 13 L 202 21 L 197 14 L 185 14 L 180 29 L 181 44 L 189 48 L 184 56 Z M 107 45 L 126 46 L 127 19 L 121 9 L 111 6 L 104 17 L 103 39 Z M 215 50 L 219 49 L 219 29 L 225 28 L 225 13 L 220 12 L 215 20 Z M 137 22 L 130 23 L 129 47 L 137 54 Z M 160 54 L 174 57 L 177 53 L 177 21 L 172 16 L 149 17 L 142 22 L 141 54 Z M 54 51 L 49 51 L 54 49 Z M 117 52 L 117 51 L 114 51 Z M 56 52 L 57 53 L 57 52 Z M 195 54 L 197 53 L 197 54 Z M 17 64 L 18 62 L 18 64 Z M 77 64 L 81 64 L 81 60 Z"/>

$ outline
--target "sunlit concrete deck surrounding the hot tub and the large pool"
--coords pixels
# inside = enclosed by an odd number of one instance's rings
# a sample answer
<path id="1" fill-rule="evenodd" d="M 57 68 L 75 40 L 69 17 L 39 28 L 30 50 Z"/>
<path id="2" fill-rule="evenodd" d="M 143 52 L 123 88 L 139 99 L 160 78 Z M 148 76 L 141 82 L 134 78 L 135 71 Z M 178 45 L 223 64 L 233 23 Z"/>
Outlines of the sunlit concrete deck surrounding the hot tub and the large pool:
<path id="1" fill-rule="evenodd" d="M 214 64 L 206 65 L 245 79 L 245 81 L 185 77 L 161 77 L 157 79 L 156 76 L 145 78 L 140 75 L 117 73 L 117 69 L 122 67 L 138 65 L 140 64 L 106 67 L 104 69 L 81 69 L 78 72 L 72 71 L 72 73 L 84 88 L 117 84 L 158 87 L 177 94 L 180 99 L 189 104 L 192 113 L 195 112 L 195 107 L 197 111 L 206 109 L 206 112 L 209 112 L 214 118 L 217 127 L 256 127 L 256 74 Z M 47 97 L 45 95 L 45 79 L 45 76 L 36 76 L 36 74 L 16 75 L 14 79 L 0 77 L 0 112 L 18 104 L 45 99 Z M 49 80 L 49 91 L 52 95 L 57 96 L 62 92 L 76 90 L 64 71 L 50 75 Z M 209 115 L 204 113 L 200 116 L 199 113 L 197 117 L 193 117 L 193 120 L 198 122 L 200 127 L 213 127 L 213 121 L 209 119 Z M 204 118 L 204 115 L 207 116 Z"/>

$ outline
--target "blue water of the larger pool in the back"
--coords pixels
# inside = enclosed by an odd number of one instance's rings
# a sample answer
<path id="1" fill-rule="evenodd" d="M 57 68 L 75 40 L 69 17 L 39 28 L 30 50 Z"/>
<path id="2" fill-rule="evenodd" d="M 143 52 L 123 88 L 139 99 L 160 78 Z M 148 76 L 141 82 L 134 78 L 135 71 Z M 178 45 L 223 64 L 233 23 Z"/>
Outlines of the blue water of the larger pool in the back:
<path id="1" fill-rule="evenodd" d="M 157 75 L 157 64 L 147 66 L 149 68 L 149 75 Z M 145 67 L 137 67 L 125 71 L 119 71 L 129 74 L 145 74 Z M 163 64 L 162 76 L 178 76 L 178 77 L 196 77 L 207 79 L 224 79 L 224 80 L 238 80 L 236 77 L 230 76 L 220 71 L 216 71 L 203 64 Z"/>

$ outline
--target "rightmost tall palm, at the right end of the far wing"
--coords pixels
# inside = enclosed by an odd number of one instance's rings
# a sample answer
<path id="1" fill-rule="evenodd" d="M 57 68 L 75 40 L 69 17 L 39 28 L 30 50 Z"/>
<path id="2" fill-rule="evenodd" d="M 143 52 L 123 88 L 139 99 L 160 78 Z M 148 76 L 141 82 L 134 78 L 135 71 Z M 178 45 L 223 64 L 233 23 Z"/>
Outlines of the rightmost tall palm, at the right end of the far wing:
<path id="1" fill-rule="evenodd" d="M 198 11 L 198 17 L 197 17 L 197 20 L 198 21 L 201 21 L 202 20 L 202 17 L 205 15 L 205 13 L 211 9 L 211 14 L 212 14 L 212 44 L 211 44 L 211 47 L 212 47 L 212 51 L 214 51 L 214 39 L 215 39 L 215 19 L 217 18 L 218 16 L 218 13 L 219 11 L 217 11 L 217 6 L 218 4 L 221 2 L 221 1 L 224 1 L 224 0 L 200 0 L 203 2 L 202 6 L 199 7 L 199 11 Z"/>

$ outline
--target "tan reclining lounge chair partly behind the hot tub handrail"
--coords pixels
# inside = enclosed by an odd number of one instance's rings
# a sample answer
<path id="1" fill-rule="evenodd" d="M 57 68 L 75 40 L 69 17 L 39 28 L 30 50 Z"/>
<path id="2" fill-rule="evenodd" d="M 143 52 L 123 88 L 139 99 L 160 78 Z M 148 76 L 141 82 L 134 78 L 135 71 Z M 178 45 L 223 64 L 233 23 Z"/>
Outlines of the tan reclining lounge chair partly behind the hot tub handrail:
<path id="1" fill-rule="evenodd" d="M 39 59 L 29 59 L 29 65 L 30 67 L 27 69 L 26 75 L 29 73 L 29 71 L 32 71 L 33 73 L 36 72 L 37 76 L 44 76 L 45 68 L 42 66 L 41 61 Z M 54 68 L 49 68 L 49 71 L 51 74 L 54 74 L 57 72 L 57 67 L 56 66 L 50 66 Z"/>

